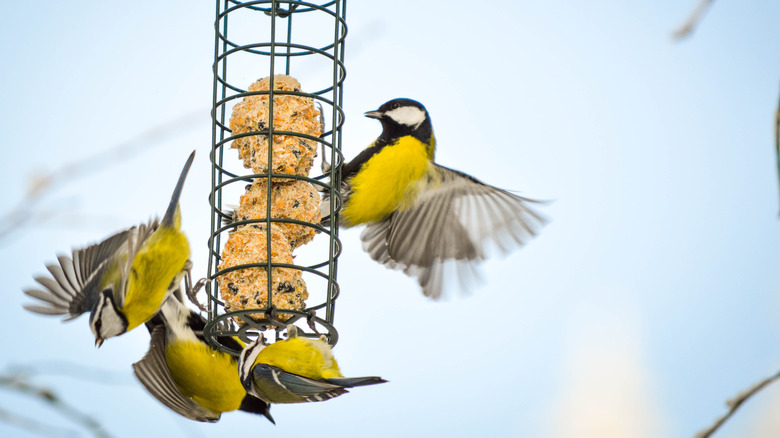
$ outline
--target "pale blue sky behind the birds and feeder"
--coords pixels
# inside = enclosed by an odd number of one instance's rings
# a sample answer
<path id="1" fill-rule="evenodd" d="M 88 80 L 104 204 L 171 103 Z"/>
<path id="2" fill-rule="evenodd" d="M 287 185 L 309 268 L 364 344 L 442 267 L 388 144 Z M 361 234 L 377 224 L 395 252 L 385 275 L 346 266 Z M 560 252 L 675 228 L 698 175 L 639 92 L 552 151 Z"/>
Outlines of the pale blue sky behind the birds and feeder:
<path id="1" fill-rule="evenodd" d="M 192 149 L 184 229 L 205 273 L 213 3 L 6 5 L 4 209 L 36 172 L 185 122 L 63 183 L 0 242 L 0 371 L 39 361 L 111 371 L 119 384 L 48 365 L 36 382 L 118 437 L 692 436 L 780 367 L 780 5 L 715 2 L 691 38 L 673 42 L 696 3 L 348 4 L 345 155 L 379 133 L 363 112 L 414 98 L 431 113 L 440 163 L 554 199 L 552 221 L 486 263 L 474 293 L 443 303 L 373 263 L 359 230 L 343 232 L 334 352 L 345 374 L 390 383 L 274 406 L 277 426 L 244 413 L 216 425 L 180 418 L 130 373 L 148 346 L 143 330 L 96 350 L 86 318 L 60 324 L 21 308 L 21 289 L 55 254 L 161 215 Z M 50 413 L 2 389 L 0 408 Z M 774 436 L 777 409 L 772 386 L 718 437 Z M 0 435 L 33 436 L 2 422 Z"/>

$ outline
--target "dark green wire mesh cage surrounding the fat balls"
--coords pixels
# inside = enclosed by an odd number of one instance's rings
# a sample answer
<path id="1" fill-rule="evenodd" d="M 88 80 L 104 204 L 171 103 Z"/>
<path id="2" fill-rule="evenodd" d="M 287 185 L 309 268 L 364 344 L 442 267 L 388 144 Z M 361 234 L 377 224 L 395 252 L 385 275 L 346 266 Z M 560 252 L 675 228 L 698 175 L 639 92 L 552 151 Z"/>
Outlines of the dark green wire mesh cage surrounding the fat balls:
<path id="1" fill-rule="evenodd" d="M 342 111 L 342 86 L 344 69 L 344 40 L 347 34 L 345 22 L 346 0 L 323 4 L 293 0 L 231 1 L 217 0 L 214 47 L 214 95 L 212 116 L 212 190 L 211 235 L 209 237 L 208 282 L 208 324 L 204 336 L 215 348 L 237 355 L 239 351 L 223 345 L 223 336 L 237 336 L 245 342 L 248 334 L 264 333 L 269 340 L 279 340 L 288 324 L 298 326 L 299 336 L 318 337 L 326 335 L 328 342 L 335 345 L 338 332 L 333 325 L 335 301 L 339 295 L 336 282 L 337 257 L 341 251 L 338 239 L 338 216 L 330 218 L 332 226 L 323 227 L 292 219 L 271 218 L 272 184 L 266 184 L 266 217 L 262 219 L 232 220 L 232 206 L 238 204 L 244 187 L 255 179 L 272 181 L 277 178 L 304 180 L 318 190 L 338 187 L 339 170 L 343 163 L 341 155 L 341 127 L 344 121 Z M 230 32 L 228 24 L 230 23 Z M 316 91 L 274 90 L 275 74 L 292 75 L 298 79 L 302 89 Z M 270 90 L 247 92 L 245 88 L 262 77 L 271 77 Z M 229 118 L 234 105 L 246 96 L 268 95 L 269 123 L 257 131 L 233 135 Z M 320 108 L 324 121 L 323 133 L 312 137 L 296 132 L 274 130 L 274 95 L 305 96 L 314 100 Z M 230 150 L 233 140 L 244 136 L 267 136 L 273 145 L 274 135 L 296 136 L 318 143 L 322 150 L 320 159 L 332 164 L 330 169 L 311 177 L 271 173 L 272 149 L 268 148 L 268 172 L 247 174 L 237 153 Z M 317 166 L 311 173 L 316 174 Z M 338 211 L 340 198 L 338 190 L 331 190 L 330 211 Z M 277 263 L 271 257 L 271 233 L 266 232 L 267 261 L 233 266 L 219 270 L 221 252 L 230 231 L 238 226 L 261 223 L 265 230 L 271 223 L 293 223 L 313 228 L 314 240 L 296 250 L 296 264 Z M 300 263 L 300 264 L 298 264 Z M 309 298 L 302 311 L 274 307 L 271 275 L 267 275 L 267 303 L 265 308 L 226 312 L 220 299 L 219 277 L 237 269 L 259 269 L 271 273 L 272 268 L 291 268 L 301 271 L 307 283 Z M 289 319 L 288 319 L 289 318 Z M 224 338 L 222 338 L 224 339 Z"/>

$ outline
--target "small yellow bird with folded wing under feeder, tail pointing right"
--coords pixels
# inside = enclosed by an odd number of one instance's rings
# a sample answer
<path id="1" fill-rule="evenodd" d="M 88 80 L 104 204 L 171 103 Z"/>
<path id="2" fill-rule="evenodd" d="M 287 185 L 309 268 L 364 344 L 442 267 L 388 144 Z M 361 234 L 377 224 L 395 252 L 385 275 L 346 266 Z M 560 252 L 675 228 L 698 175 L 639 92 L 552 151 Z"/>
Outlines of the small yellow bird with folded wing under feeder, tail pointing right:
<path id="1" fill-rule="evenodd" d="M 263 334 L 241 351 L 241 383 L 249 394 L 268 403 L 306 403 L 338 397 L 355 386 L 385 383 L 381 377 L 343 377 L 324 339 L 297 336 L 287 326 L 287 339 L 266 345 Z"/>

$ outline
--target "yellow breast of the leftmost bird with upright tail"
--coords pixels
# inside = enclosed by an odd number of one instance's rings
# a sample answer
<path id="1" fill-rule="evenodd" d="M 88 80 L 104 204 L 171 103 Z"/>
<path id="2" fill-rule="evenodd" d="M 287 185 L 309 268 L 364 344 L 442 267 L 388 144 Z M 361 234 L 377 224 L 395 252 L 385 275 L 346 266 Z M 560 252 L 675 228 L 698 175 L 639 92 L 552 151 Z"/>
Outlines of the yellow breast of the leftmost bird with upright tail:
<path id="1" fill-rule="evenodd" d="M 133 259 L 122 305 L 128 331 L 157 313 L 171 280 L 184 269 L 189 257 L 187 237 L 173 228 L 159 228 L 144 244 Z"/>

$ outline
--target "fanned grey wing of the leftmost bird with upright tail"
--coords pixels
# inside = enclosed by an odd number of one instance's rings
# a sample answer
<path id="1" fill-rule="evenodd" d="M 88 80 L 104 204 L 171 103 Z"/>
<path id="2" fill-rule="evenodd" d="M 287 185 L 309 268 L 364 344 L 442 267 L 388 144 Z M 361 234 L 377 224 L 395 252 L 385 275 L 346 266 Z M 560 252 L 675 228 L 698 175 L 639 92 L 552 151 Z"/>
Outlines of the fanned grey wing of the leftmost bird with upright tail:
<path id="1" fill-rule="evenodd" d="M 72 257 L 57 257 L 59 264 L 46 265 L 51 277 L 35 277 L 43 289 L 24 290 L 44 305 L 25 305 L 24 308 L 44 315 L 69 315 L 66 320 L 92 310 L 101 290 L 102 274 L 123 250 L 132 232 L 133 229 L 125 230 L 100 243 L 75 250 Z"/>

